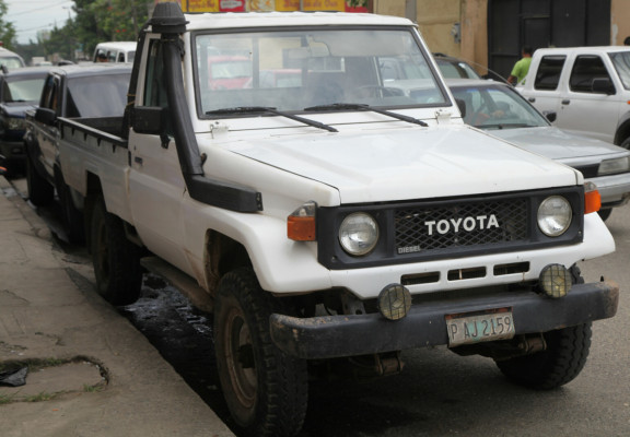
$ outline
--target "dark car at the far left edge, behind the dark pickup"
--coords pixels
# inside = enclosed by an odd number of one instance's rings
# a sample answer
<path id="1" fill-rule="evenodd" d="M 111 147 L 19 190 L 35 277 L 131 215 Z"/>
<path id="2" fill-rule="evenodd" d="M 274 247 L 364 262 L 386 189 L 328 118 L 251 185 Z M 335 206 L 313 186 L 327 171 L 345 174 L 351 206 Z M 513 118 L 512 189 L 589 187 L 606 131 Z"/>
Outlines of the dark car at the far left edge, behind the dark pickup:
<path id="1" fill-rule="evenodd" d="M 40 67 L 0 72 L 0 155 L 9 176 L 24 167 L 24 116 L 37 105 L 47 73 Z"/>

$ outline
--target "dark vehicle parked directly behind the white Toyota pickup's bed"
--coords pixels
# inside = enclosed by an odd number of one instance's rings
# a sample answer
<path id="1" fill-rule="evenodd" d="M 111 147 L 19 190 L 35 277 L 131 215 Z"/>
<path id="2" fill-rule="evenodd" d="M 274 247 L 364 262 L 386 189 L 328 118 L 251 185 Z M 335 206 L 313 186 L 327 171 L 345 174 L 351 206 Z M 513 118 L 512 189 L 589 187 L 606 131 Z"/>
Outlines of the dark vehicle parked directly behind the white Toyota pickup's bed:
<path id="1" fill-rule="evenodd" d="M 33 204 L 61 203 L 66 234 L 71 243 L 83 238 L 82 217 L 69 201 L 70 191 L 59 169 L 60 117 L 84 117 L 101 121 L 101 128 L 122 117 L 131 76 L 129 63 L 86 63 L 50 69 L 40 92 L 39 107 L 26 114 L 26 182 Z M 119 133 L 109 129 L 109 133 Z"/>

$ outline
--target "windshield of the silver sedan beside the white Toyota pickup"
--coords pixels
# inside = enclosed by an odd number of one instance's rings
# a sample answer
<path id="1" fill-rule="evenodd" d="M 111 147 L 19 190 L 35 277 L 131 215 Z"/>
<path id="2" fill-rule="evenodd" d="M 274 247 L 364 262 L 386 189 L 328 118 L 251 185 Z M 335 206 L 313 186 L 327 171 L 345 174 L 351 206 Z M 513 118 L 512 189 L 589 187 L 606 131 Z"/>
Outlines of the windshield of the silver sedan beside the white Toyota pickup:
<path id="1" fill-rule="evenodd" d="M 508 86 L 452 86 L 466 105 L 464 122 L 481 129 L 544 127 L 549 122 L 521 95 Z"/>

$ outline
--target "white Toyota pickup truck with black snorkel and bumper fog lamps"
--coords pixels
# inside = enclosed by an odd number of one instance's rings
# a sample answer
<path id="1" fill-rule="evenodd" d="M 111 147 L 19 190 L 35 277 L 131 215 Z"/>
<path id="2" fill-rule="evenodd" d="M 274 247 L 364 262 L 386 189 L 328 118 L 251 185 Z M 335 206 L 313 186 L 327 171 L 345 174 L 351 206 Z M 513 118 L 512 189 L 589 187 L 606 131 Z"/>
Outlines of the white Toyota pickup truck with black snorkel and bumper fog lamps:
<path id="1" fill-rule="evenodd" d="M 125 116 L 55 122 L 98 292 L 132 302 L 144 267 L 213 311 L 243 434 L 299 433 L 330 359 L 387 375 L 411 347 L 556 388 L 616 314 L 575 267 L 615 250 L 597 191 L 464 125 L 408 20 L 159 3 Z"/>

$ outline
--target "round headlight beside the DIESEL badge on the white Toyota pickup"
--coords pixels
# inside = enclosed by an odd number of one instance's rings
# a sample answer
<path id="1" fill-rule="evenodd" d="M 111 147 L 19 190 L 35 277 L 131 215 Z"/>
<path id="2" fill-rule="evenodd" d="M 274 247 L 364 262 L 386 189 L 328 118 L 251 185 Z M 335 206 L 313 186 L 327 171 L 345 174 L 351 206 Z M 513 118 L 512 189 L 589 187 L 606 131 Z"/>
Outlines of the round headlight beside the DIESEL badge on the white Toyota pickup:
<path id="1" fill-rule="evenodd" d="M 378 241 L 378 224 L 370 215 L 355 212 L 348 215 L 339 227 L 339 243 L 355 257 L 370 253 Z"/>

